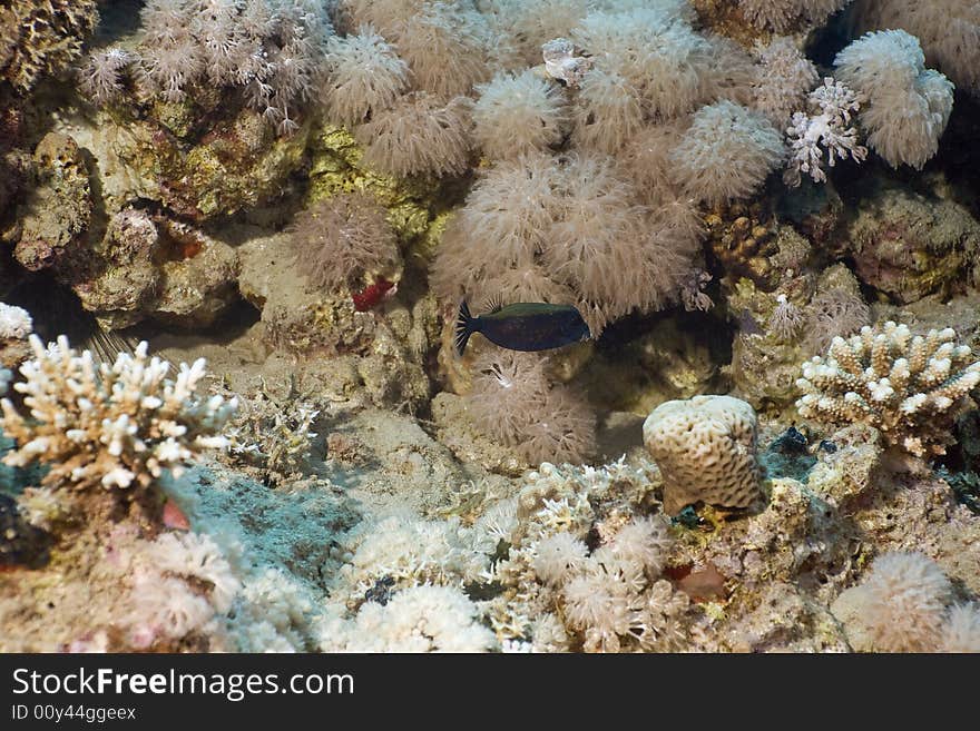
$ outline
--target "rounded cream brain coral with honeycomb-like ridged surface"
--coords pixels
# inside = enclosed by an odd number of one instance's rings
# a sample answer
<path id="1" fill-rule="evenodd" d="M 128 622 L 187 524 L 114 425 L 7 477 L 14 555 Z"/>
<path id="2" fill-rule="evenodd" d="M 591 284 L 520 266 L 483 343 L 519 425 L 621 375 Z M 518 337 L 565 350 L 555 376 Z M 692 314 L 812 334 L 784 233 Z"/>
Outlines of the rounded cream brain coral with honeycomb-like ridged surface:
<path id="1" fill-rule="evenodd" d="M 644 444 L 664 476 L 664 511 L 703 501 L 747 507 L 759 496 L 755 411 L 732 396 L 660 404 L 644 422 Z"/>

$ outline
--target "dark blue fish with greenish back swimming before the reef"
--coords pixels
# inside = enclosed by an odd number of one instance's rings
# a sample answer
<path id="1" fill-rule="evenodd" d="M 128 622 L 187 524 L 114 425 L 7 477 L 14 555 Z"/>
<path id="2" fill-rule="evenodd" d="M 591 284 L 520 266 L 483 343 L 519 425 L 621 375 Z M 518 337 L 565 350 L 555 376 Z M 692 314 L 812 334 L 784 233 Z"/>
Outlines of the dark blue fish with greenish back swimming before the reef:
<path id="1" fill-rule="evenodd" d="M 509 350 L 550 350 L 591 337 L 581 313 L 571 305 L 521 302 L 493 306 L 473 317 L 463 300 L 455 324 L 455 349 L 462 355 L 473 333 Z"/>

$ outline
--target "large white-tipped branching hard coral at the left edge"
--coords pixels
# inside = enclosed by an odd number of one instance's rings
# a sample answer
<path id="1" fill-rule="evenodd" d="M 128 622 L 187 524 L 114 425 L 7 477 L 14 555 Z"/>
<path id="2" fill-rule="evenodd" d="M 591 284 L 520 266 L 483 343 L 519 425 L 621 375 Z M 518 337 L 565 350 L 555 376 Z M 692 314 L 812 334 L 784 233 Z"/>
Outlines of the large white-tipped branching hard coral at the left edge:
<path id="1" fill-rule="evenodd" d="M 79 354 L 65 336 L 46 348 L 32 335 L 30 344 L 35 357 L 21 365 L 14 389 L 31 417 L 3 399 L 0 426 L 18 443 L 4 464 L 46 463 L 43 483 L 51 486 L 147 486 L 164 470 L 179 474 L 199 450 L 226 446 L 219 431 L 237 402 L 196 395 L 203 358 L 180 364 L 174 381 L 166 377 L 170 365 L 150 358 L 145 342 L 112 365 Z"/>

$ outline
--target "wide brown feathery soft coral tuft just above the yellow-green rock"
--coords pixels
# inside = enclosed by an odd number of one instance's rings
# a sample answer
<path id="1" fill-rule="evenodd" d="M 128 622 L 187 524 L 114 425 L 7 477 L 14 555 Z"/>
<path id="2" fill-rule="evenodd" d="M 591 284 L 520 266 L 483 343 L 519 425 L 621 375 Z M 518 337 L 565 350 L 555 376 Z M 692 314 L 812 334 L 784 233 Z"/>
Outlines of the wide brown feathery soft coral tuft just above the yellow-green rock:
<path id="1" fill-rule="evenodd" d="M 410 175 L 459 175 L 469 161 L 472 103 L 464 97 L 442 101 L 413 91 L 361 125 L 354 135 L 364 145 L 364 164 Z"/>

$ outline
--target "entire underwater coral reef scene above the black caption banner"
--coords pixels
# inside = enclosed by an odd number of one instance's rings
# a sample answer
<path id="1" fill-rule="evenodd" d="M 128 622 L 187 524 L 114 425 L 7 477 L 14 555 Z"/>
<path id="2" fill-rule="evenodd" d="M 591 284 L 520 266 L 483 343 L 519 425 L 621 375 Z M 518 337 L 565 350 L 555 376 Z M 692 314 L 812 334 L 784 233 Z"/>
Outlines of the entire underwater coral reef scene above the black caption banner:
<path id="1" fill-rule="evenodd" d="M 0 1 L 0 651 L 980 652 L 976 0 Z"/>

